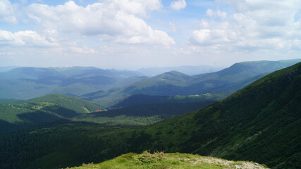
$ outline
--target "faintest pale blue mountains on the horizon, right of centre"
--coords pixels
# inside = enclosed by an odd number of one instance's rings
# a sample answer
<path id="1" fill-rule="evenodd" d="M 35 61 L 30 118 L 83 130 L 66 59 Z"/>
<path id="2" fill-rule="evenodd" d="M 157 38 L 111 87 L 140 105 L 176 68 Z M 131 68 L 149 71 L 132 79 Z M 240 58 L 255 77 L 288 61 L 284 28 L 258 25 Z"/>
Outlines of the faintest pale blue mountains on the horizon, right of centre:
<path id="1" fill-rule="evenodd" d="M 141 68 L 137 72 L 147 76 L 155 76 L 170 71 L 178 71 L 186 75 L 199 75 L 202 73 L 212 73 L 221 70 L 221 68 L 214 68 L 209 65 L 183 65 L 178 67 L 165 67 L 165 68 Z"/>

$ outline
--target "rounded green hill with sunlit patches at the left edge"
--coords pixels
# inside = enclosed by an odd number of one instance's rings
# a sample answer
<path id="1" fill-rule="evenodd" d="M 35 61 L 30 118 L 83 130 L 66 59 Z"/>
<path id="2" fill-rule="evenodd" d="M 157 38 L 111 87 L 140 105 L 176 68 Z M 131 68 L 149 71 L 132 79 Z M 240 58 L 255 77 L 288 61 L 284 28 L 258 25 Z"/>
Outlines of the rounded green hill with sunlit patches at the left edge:
<path id="1" fill-rule="evenodd" d="M 11 130 L 7 128 L 10 126 L 6 125 L 7 123 L 16 125 L 16 127 L 40 125 L 70 120 L 76 115 L 97 110 L 104 110 L 104 108 L 90 101 L 62 94 L 51 94 L 22 101 L 20 104 L 0 104 L 0 126 L 2 126 L 1 131 L 7 131 Z"/>

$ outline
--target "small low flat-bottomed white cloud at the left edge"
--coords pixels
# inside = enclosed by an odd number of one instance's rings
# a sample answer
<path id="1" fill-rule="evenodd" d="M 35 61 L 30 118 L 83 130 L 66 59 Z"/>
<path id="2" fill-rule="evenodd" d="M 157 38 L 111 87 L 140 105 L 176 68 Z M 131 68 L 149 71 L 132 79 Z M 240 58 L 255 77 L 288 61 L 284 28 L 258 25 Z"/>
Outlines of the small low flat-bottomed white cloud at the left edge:
<path id="1" fill-rule="evenodd" d="M 53 40 L 53 39 L 52 39 Z M 19 32 L 9 32 L 0 30 L 0 44 L 10 46 L 59 46 L 56 42 L 51 42 L 35 31 L 25 30 Z"/>

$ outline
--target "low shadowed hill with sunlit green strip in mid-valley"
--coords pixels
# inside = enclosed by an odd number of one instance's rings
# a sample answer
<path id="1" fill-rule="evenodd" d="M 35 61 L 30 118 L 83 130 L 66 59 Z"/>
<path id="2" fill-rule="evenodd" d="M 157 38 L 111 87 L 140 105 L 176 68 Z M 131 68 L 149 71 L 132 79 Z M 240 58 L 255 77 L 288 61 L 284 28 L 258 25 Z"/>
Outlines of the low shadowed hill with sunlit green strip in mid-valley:
<path id="1" fill-rule="evenodd" d="M 113 108 L 108 111 L 86 113 L 75 116 L 70 120 L 99 123 L 109 126 L 134 127 L 151 125 L 175 115 L 195 111 L 215 101 L 195 101 L 188 103 L 153 103 Z"/>

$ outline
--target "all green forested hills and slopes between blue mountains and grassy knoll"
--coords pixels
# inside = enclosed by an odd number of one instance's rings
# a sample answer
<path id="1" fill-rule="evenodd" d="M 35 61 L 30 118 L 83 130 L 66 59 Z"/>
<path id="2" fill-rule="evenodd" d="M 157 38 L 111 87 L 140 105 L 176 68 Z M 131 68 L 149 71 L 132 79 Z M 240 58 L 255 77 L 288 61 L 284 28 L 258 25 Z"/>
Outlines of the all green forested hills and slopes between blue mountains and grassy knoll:
<path id="1" fill-rule="evenodd" d="M 2 110 L 13 110 L 7 111 L 11 118 L 1 113 L 1 168 L 67 168 L 143 151 L 254 161 L 269 168 L 300 168 L 300 78 L 298 63 L 215 103 L 190 102 L 204 108 L 183 115 L 168 113 L 172 110 L 169 106 L 180 108 L 180 103 L 142 104 L 157 108 L 154 112 L 161 113 L 156 114 L 132 111 L 139 106 L 106 110 L 63 95 L 1 104 Z M 192 106 L 182 104 L 183 109 Z M 118 117 L 123 110 L 133 124 L 138 117 L 156 116 L 156 120 L 140 125 L 96 122 Z M 82 116 L 85 120 L 80 120 Z M 89 117 L 97 120 L 87 121 Z"/>

